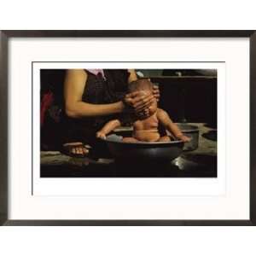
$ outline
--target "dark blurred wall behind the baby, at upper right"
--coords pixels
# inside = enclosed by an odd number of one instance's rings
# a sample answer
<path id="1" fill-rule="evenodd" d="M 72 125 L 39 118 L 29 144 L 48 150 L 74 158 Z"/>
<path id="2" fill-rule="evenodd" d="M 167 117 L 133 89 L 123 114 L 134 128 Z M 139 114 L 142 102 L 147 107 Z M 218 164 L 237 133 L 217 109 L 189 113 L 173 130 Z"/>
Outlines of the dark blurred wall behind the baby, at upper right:
<path id="1" fill-rule="evenodd" d="M 139 70 L 160 86 L 160 108 L 176 122 L 217 127 L 216 69 Z"/>

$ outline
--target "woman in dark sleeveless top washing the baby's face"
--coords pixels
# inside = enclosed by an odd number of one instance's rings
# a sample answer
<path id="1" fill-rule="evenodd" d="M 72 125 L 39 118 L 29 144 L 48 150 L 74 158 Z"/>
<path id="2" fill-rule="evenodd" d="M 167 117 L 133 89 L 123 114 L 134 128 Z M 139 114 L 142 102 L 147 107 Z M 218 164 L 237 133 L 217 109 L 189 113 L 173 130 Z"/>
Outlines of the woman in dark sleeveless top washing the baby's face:
<path id="1" fill-rule="evenodd" d="M 72 69 L 64 82 L 65 131 L 63 152 L 84 157 L 89 153 L 84 145 L 96 144 L 96 131 L 114 116 L 128 108 L 148 116 L 148 107 L 159 98 L 158 87 L 154 95 L 142 91 L 126 94 L 127 84 L 137 79 L 134 70 Z"/>

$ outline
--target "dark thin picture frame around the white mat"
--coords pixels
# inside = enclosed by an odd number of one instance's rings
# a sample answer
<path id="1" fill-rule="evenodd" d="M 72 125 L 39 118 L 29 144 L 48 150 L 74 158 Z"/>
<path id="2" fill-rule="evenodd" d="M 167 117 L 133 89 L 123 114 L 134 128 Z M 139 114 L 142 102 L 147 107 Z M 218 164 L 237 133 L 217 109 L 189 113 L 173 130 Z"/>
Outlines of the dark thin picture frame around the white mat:
<path id="1" fill-rule="evenodd" d="M 14 220 L 9 212 L 8 57 L 10 38 L 250 38 L 249 220 Z M 256 224 L 256 32 L 255 31 L 0 31 L 0 225 L 255 225 Z M 242 171 L 242 170 L 241 170 Z"/>

